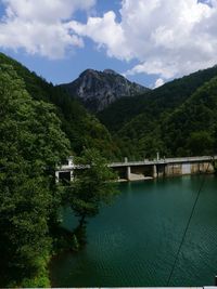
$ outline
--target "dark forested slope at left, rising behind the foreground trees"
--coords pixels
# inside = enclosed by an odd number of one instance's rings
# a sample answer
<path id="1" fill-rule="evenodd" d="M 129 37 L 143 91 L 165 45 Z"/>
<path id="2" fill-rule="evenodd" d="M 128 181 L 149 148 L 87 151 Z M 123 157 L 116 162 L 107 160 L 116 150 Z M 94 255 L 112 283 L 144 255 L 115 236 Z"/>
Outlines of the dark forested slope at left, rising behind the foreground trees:
<path id="1" fill-rule="evenodd" d="M 84 147 L 95 147 L 108 158 L 114 158 L 118 154 L 118 148 L 114 145 L 106 128 L 62 88 L 48 83 L 18 62 L 0 53 L 0 67 L 2 64 L 13 66 L 25 81 L 26 90 L 31 97 L 55 105 L 56 114 L 62 121 L 62 130 L 69 139 L 74 153 L 79 154 Z"/>

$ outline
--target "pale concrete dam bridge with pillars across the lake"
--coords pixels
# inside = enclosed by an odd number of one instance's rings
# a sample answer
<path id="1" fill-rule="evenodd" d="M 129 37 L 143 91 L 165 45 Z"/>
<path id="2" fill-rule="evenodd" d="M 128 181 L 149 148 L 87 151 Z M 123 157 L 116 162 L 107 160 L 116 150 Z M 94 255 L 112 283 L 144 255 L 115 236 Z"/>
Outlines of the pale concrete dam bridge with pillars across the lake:
<path id="1" fill-rule="evenodd" d="M 196 173 L 213 173 L 214 161 L 217 156 L 183 157 L 183 158 L 157 158 L 154 160 L 112 162 L 107 166 L 117 172 L 120 181 L 148 180 L 163 176 L 175 176 Z M 85 169 L 87 166 L 74 165 L 73 158 L 67 163 L 56 169 L 56 180 L 73 180 L 73 172 Z"/>

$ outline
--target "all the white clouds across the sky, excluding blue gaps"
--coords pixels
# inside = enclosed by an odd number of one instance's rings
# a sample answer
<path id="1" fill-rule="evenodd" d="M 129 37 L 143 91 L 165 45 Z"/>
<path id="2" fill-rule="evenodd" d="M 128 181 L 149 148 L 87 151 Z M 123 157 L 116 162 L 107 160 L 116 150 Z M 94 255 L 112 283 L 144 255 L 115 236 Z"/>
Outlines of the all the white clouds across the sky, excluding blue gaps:
<path id="1" fill-rule="evenodd" d="M 58 58 L 69 48 L 82 48 L 88 37 L 108 56 L 137 63 L 125 75 L 144 73 L 162 81 L 217 63 L 217 0 L 122 0 L 120 17 L 107 11 L 87 23 L 73 15 L 89 10 L 97 0 L 2 2 L 3 48 L 24 48 L 28 53 Z"/>

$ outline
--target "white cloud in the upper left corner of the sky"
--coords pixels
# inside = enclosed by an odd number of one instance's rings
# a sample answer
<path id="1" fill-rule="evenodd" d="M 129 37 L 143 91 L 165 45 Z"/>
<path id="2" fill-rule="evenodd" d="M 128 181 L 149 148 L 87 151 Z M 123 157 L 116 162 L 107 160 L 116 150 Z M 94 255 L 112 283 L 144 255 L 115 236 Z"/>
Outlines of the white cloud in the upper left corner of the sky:
<path id="1" fill-rule="evenodd" d="M 60 58 L 84 41 L 69 31 L 67 22 L 77 10 L 88 10 L 95 0 L 2 0 L 5 15 L 0 21 L 0 47 Z"/>

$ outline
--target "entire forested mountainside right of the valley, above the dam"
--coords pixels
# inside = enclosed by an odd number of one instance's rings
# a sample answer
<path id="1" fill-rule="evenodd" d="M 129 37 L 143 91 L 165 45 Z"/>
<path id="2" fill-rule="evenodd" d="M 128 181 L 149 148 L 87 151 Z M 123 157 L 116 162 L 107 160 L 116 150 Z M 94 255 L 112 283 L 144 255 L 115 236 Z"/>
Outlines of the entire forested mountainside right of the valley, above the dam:
<path id="1" fill-rule="evenodd" d="M 214 154 L 216 76 L 216 66 L 200 70 L 144 95 L 123 97 L 98 117 L 122 156 L 131 159 L 153 158 L 156 152 L 167 157 Z"/>

